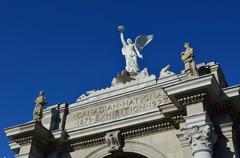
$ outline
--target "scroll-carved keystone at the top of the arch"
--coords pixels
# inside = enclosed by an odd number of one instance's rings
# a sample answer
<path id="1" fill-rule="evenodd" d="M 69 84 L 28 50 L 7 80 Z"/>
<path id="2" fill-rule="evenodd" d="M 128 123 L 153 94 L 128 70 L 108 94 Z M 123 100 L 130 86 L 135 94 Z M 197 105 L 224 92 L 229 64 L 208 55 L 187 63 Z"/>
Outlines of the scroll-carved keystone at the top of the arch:
<path id="1" fill-rule="evenodd" d="M 124 138 L 122 137 L 119 130 L 107 132 L 105 141 L 107 143 L 109 153 L 122 151 L 122 148 L 124 146 Z"/>

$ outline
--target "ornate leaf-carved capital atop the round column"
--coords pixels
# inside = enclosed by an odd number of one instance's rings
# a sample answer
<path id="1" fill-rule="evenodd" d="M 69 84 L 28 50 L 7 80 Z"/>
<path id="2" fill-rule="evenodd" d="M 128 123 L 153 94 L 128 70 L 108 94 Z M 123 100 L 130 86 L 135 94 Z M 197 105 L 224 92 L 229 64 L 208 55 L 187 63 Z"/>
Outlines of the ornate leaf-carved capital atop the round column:
<path id="1" fill-rule="evenodd" d="M 191 146 L 193 155 L 202 150 L 212 153 L 214 144 L 217 141 L 217 135 L 211 125 L 202 127 L 194 126 L 192 128 L 182 129 L 182 131 Z"/>

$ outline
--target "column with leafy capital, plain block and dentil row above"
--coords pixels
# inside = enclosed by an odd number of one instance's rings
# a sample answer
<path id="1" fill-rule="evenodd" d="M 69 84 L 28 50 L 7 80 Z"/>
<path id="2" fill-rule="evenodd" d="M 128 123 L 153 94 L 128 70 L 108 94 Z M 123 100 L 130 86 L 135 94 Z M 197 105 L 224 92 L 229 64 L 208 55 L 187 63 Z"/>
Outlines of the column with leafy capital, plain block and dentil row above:
<path id="1" fill-rule="evenodd" d="M 185 124 L 182 125 L 181 133 L 177 135 L 184 149 L 183 154 L 187 157 L 212 158 L 217 135 L 207 114 L 207 96 L 207 93 L 203 92 L 178 99 L 187 112 L 187 116 L 184 117 Z M 189 148 L 192 156 L 188 154 Z"/>

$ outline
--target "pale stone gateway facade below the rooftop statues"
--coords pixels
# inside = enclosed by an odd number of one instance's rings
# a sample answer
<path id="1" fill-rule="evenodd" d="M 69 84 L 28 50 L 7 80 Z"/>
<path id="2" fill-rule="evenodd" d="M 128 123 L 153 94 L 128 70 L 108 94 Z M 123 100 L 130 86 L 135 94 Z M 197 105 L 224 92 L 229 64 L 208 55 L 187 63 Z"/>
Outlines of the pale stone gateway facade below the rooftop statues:
<path id="1" fill-rule="evenodd" d="M 219 64 L 198 75 L 148 74 L 43 110 L 5 129 L 18 158 L 237 158 L 240 86 Z"/>

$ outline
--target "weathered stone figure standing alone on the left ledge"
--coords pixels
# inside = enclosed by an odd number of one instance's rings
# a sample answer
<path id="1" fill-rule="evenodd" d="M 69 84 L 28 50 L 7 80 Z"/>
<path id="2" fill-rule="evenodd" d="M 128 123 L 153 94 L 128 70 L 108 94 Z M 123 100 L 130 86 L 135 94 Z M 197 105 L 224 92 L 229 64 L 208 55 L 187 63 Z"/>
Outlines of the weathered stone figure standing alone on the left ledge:
<path id="1" fill-rule="evenodd" d="M 35 108 L 33 111 L 33 119 L 41 122 L 43 106 L 47 104 L 44 91 L 40 91 L 38 97 L 35 99 Z"/>

